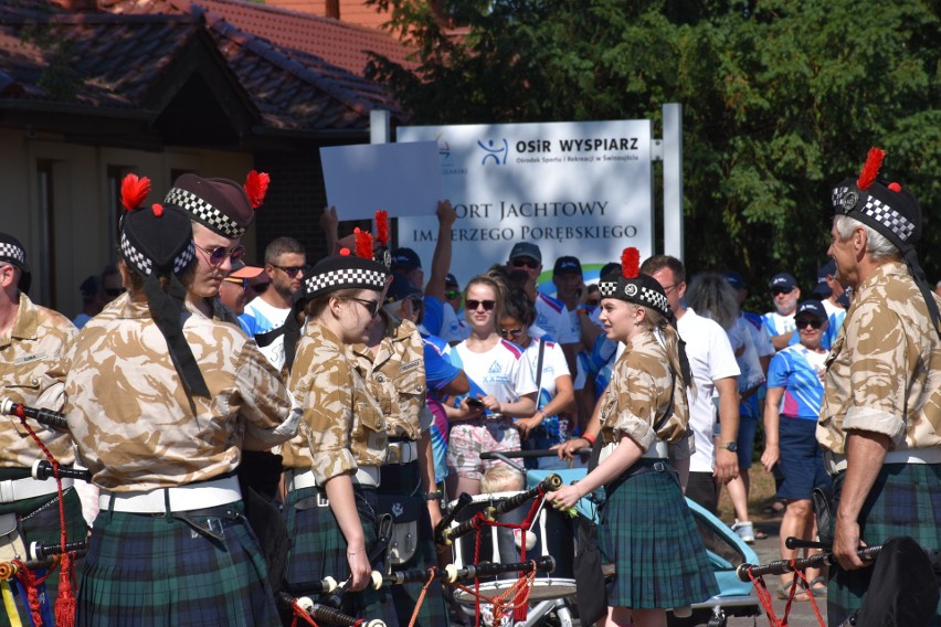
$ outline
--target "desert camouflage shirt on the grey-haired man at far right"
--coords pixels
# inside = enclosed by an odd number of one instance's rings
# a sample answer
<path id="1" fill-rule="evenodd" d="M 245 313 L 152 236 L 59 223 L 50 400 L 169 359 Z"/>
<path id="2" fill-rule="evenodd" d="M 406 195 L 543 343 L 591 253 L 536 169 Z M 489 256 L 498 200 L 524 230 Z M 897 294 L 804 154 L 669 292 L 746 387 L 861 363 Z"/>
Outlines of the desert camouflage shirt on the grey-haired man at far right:
<path id="1" fill-rule="evenodd" d="M 885 434 L 895 449 L 941 446 L 941 341 L 903 264 L 859 286 L 826 365 L 824 448 L 845 453 L 847 429 Z"/>

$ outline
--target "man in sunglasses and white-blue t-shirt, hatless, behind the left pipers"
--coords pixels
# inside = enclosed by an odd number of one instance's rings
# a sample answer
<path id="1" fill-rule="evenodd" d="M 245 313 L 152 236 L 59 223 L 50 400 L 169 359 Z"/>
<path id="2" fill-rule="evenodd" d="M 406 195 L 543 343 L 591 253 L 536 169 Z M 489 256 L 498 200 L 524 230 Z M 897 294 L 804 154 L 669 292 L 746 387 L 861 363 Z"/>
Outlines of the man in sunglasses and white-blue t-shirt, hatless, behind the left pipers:
<path id="1" fill-rule="evenodd" d="M 262 353 L 278 370 L 284 365 L 284 322 L 300 289 L 307 254 L 293 237 L 278 237 L 265 247 L 265 273 L 271 285 L 245 306 L 239 317 Z"/>

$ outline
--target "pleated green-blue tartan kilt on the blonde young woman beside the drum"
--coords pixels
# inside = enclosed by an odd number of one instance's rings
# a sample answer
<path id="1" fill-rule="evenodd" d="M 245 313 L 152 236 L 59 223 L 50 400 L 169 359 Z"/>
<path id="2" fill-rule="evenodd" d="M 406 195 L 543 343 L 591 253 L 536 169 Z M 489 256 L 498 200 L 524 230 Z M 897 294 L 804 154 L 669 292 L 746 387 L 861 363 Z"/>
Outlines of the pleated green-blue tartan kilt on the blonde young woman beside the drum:
<path id="1" fill-rule="evenodd" d="M 602 562 L 616 566 L 607 584 L 609 606 L 683 607 L 719 593 L 702 539 L 670 472 L 643 472 L 609 486 L 599 523 Z"/>

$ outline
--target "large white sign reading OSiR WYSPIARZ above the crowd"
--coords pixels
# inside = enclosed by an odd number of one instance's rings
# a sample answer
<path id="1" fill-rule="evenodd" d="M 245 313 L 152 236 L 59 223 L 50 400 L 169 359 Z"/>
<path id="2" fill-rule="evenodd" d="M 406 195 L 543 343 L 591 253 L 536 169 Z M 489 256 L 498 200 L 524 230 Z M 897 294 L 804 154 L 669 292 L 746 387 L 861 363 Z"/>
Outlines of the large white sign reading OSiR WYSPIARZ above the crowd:
<path id="1" fill-rule="evenodd" d="M 403 127 L 398 140 L 437 142 L 462 286 L 506 263 L 517 242 L 539 246 L 542 279 L 562 255 L 593 280 L 626 246 L 653 253 L 649 120 Z M 436 236 L 434 211 L 399 220 L 399 245 L 425 266 Z"/>

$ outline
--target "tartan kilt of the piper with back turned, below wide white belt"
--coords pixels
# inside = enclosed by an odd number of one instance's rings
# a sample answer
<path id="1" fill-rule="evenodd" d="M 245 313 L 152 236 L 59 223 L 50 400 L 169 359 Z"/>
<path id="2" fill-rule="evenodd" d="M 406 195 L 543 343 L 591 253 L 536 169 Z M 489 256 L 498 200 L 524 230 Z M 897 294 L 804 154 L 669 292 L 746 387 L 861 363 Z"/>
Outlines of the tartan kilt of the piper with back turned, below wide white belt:
<path id="1" fill-rule="evenodd" d="M 241 501 L 223 507 L 243 512 Z M 214 540 L 166 514 L 102 511 L 78 582 L 75 625 L 279 625 L 249 523 L 243 516 L 226 519 L 221 533 Z"/>

